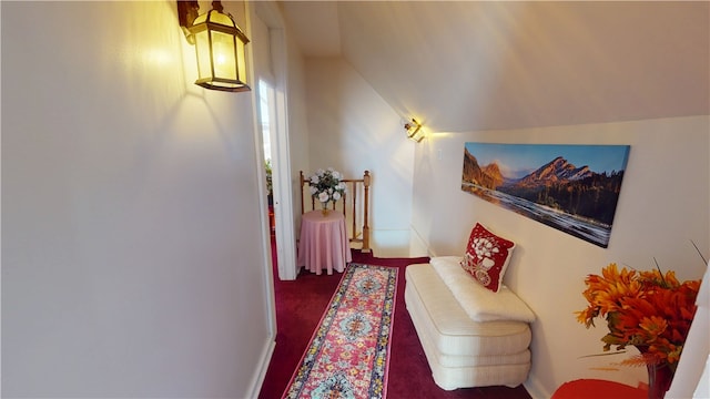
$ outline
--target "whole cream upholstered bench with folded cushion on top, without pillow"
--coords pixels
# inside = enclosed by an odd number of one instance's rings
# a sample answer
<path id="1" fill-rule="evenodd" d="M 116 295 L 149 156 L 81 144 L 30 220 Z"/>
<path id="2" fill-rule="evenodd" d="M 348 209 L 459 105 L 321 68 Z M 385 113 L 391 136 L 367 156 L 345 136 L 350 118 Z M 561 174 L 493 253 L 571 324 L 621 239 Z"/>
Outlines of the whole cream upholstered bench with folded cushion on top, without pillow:
<path id="1" fill-rule="evenodd" d="M 459 265 L 432 258 L 406 268 L 405 304 L 434 381 L 443 389 L 523 383 L 535 315 L 503 286 L 493 293 Z"/>

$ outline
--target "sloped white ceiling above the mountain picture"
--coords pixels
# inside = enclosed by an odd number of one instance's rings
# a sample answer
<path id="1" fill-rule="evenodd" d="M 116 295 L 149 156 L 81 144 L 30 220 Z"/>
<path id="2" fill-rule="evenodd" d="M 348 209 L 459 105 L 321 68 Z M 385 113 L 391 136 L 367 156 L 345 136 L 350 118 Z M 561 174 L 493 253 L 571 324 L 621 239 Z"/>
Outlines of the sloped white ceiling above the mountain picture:
<path id="1" fill-rule="evenodd" d="M 710 113 L 706 1 L 290 1 L 284 12 L 306 57 L 339 52 L 436 131 Z"/>

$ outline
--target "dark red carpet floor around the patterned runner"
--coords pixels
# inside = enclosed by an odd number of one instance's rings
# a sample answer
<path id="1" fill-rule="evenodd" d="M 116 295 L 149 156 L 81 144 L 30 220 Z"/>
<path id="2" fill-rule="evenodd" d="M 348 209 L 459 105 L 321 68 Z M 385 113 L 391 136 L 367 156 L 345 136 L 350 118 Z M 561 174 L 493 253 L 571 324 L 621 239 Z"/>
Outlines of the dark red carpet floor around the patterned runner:
<path id="1" fill-rule="evenodd" d="M 523 386 L 517 388 L 465 388 L 445 391 L 434 383 L 432 370 L 426 361 L 404 303 L 405 267 L 428 262 L 428 258 L 377 258 L 372 254 L 362 254 L 358 250 L 354 250 L 353 262 L 399 268 L 387 398 L 530 398 Z M 275 264 L 276 260 L 274 259 Z M 277 274 L 275 273 L 275 275 Z M 281 282 L 276 278 L 276 323 L 278 331 L 276 334 L 276 347 L 266 371 L 258 396 L 260 399 L 278 399 L 282 397 L 342 276 L 339 273 L 331 276 L 316 276 L 302 269 L 298 277 L 293 282 Z"/>

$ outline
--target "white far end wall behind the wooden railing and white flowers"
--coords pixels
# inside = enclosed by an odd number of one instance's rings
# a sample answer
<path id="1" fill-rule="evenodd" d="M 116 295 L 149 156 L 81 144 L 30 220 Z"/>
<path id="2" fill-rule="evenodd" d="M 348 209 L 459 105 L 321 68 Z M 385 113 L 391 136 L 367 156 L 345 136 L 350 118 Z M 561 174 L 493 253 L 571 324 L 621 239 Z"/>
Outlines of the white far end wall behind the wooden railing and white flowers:
<path id="1" fill-rule="evenodd" d="M 371 171 L 371 246 L 376 256 L 408 256 L 416 143 L 402 116 L 342 58 L 306 61 L 310 171 L 333 166 L 347 177 Z"/>

